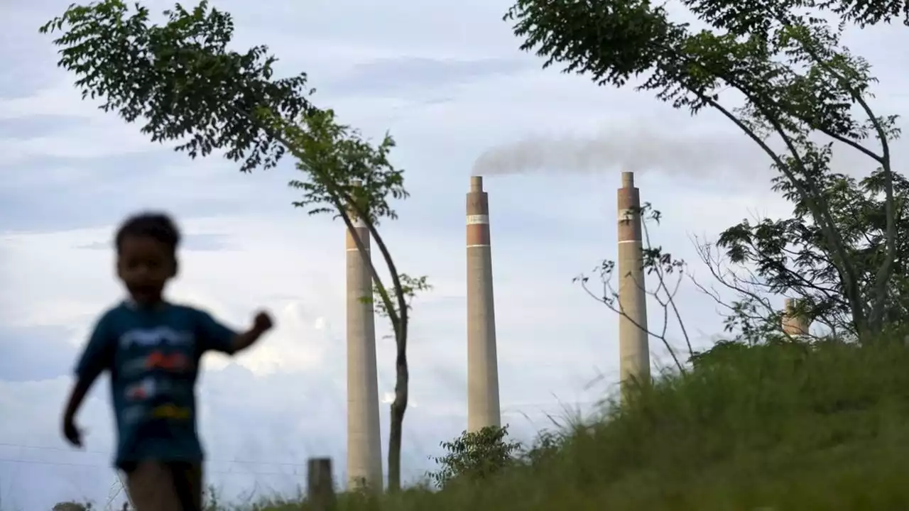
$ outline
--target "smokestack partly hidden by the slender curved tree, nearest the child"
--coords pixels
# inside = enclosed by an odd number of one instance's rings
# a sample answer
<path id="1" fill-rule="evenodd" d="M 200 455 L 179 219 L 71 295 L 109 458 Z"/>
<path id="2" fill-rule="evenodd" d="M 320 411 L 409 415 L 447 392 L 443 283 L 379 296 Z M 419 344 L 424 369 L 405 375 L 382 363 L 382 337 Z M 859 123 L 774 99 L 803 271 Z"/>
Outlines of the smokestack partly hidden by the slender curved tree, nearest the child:
<path id="1" fill-rule="evenodd" d="M 355 186 L 361 185 L 359 181 Z M 369 230 L 351 214 L 347 230 L 347 481 L 353 488 L 379 488 L 382 481 L 382 445 L 379 431 L 379 389 L 375 368 L 373 276 L 369 271 Z M 354 236 L 367 250 L 364 257 Z"/>

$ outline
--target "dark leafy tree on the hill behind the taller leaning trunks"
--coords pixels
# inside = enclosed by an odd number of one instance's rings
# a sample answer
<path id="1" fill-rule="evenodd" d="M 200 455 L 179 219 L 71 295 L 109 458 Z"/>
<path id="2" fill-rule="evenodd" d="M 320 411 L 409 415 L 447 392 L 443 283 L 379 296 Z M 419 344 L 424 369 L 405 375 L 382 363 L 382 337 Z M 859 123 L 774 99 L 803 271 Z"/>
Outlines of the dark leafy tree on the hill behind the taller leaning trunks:
<path id="1" fill-rule="evenodd" d="M 876 272 L 886 254 L 886 207 L 880 175 L 858 180 L 846 175 L 828 175 L 824 184 L 834 225 L 841 233 L 850 255 L 863 296 L 873 296 Z M 811 318 L 824 326 L 824 334 L 855 339 L 851 306 L 844 295 L 833 257 L 824 236 L 807 217 L 804 205 L 780 180 L 777 189 L 794 203 L 792 218 L 743 220 L 719 236 L 716 242 L 695 240 L 701 260 L 720 286 L 734 291 L 737 298 L 726 302 L 714 287 L 698 283 L 727 311 L 726 330 L 736 338 L 754 343 L 779 334 L 782 311 L 772 297 L 781 293 L 797 297 L 794 314 Z M 909 182 L 894 175 L 897 204 L 896 231 L 909 230 Z M 892 275 L 883 302 L 883 325 L 888 329 L 907 326 L 909 314 L 909 245 L 904 236 L 895 240 Z"/>

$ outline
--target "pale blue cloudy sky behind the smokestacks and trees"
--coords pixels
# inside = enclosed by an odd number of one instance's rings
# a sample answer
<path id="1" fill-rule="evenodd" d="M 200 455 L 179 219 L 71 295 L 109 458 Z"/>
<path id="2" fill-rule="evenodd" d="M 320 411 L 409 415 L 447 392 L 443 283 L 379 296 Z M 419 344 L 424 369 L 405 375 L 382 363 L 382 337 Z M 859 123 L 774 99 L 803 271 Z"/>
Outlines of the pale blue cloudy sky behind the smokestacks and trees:
<path id="1" fill-rule="evenodd" d="M 248 352 L 205 358 L 208 482 L 229 499 L 286 494 L 304 483 L 310 456 L 332 456 L 336 480 L 345 480 L 343 225 L 291 205 L 289 163 L 243 175 L 217 157 L 193 161 L 82 101 L 74 77 L 55 67 L 51 38 L 37 33 L 68 3 L 0 4 L 0 509 L 123 498 L 110 467 L 106 382 L 78 417 L 84 450 L 66 446 L 58 426 L 87 331 L 123 297 L 115 227 L 145 208 L 170 211 L 185 231 L 172 299 L 237 327 L 259 308 L 275 316 L 275 332 Z M 236 48 L 269 45 L 279 73 L 308 73 L 316 105 L 370 137 L 395 136 L 393 162 L 412 196 L 395 204 L 400 218 L 382 234 L 402 271 L 435 286 L 414 303 L 408 480 L 466 426 L 464 194 L 474 168 L 487 174 L 503 420 L 525 440 L 551 427 L 549 416 L 592 414 L 614 392 L 616 316 L 573 278 L 614 258 L 620 171 L 634 170 L 643 200 L 663 212 L 649 231 L 654 245 L 701 278 L 692 236 L 712 239 L 744 217 L 789 211 L 770 191 L 766 156 L 734 126 L 542 70 L 501 21 L 506 1 L 212 4 L 235 16 Z M 888 50 L 909 43 L 902 30 L 847 40 L 881 79 L 881 113 L 909 110 L 909 63 Z M 515 151 L 531 157 L 528 148 L 542 164 L 518 173 Z M 897 145 L 898 169 L 902 154 Z M 843 168 L 867 170 L 860 158 L 837 156 Z M 722 330 L 714 302 L 687 284 L 678 301 L 695 346 L 709 346 Z M 652 328 L 662 316 L 651 303 Z M 387 403 L 394 343 L 378 321 Z M 668 336 L 683 344 L 678 328 Z M 657 341 L 651 347 L 655 367 L 669 363 Z M 381 410 L 385 456 L 387 405 Z"/>

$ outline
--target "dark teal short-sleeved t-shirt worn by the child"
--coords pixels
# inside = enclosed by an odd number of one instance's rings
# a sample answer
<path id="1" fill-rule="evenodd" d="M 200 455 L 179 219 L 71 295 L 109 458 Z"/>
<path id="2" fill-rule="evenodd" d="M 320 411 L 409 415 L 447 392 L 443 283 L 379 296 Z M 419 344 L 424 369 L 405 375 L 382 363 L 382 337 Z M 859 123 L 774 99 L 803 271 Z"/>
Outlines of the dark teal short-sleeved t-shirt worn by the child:
<path id="1" fill-rule="evenodd" d="M 235 335 L 189 306 L 124 302 L 101 316 L 75 376 L 110 373 L 117 467 L 147 460 L 202 461 L 195 420 L 199 360 L 208 350 L 231 354 Z"/>

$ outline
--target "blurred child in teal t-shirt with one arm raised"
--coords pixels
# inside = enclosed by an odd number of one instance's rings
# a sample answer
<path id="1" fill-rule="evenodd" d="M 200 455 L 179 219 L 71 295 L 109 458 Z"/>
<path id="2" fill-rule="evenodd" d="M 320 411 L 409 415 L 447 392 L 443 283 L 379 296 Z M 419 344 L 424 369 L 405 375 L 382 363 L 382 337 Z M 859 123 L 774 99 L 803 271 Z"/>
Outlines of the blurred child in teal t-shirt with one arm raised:
<path id="1" fill-rule="evenodd" d="M 118 441 L 115 465 L 137 511 L 202 509 L 202 446 L 196 434 L 195 381 L 208 350 L 233 355 L 272 327 L 265 313 L 236 333 L 212 316 L 165 301 L 176 276 L 180 234 L 161 214 L 135 215 L 117 231 L 117 276 L 129 297 L 105 312 L 75 368 L 63 433 L 82 446 L 74 417 L 85 393 L 110 371 Z"/>

